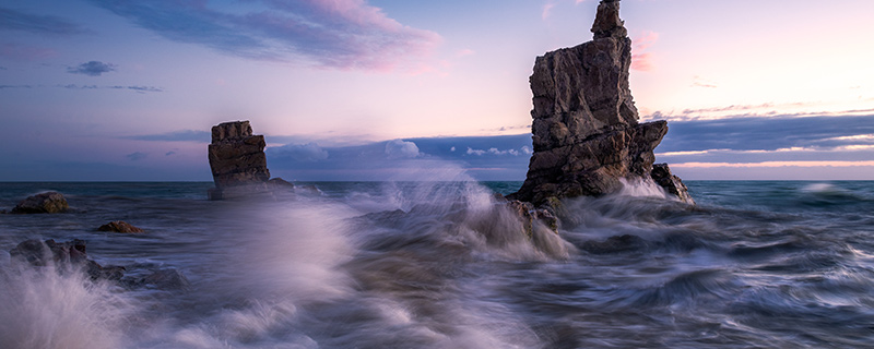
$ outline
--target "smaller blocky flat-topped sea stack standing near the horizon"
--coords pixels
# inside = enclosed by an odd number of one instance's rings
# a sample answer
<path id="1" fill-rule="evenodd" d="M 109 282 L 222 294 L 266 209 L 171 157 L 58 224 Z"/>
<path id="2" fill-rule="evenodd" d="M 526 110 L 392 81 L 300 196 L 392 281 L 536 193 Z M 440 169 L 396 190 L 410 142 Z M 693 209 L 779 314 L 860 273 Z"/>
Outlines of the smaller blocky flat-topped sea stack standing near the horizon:
<path id="1" fill-rule="evenodd" d="M 280 178 L 270 179 L 265 146 L 263 135 L 252 135 L 249 121 L 214 125 L 209 153 L 215 189 L 210 190 L 210 200 L 269 193 L 283 186 L 293 188 L 294 184 Z"/>

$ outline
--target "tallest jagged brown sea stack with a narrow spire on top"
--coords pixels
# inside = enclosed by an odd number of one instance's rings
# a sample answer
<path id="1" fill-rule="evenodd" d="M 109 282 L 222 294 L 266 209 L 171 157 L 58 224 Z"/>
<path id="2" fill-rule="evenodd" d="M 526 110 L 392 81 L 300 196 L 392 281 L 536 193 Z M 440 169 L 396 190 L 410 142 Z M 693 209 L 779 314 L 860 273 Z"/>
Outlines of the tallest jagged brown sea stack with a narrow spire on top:
<path id="1" fill-rule="evenodd" d="M 668 123 L 638 123 L 628 86 L 631 40 L 623 25 L 619 1 L 602 0 L 592 41 L 538 57 L 530 79 L 534 154 L 510 198 L 542 205 L 550 197 L 616 192 L 624 180 L 652 180 L 653 149 Z M 678 190 L 688 196 L 685 186 Z"/>

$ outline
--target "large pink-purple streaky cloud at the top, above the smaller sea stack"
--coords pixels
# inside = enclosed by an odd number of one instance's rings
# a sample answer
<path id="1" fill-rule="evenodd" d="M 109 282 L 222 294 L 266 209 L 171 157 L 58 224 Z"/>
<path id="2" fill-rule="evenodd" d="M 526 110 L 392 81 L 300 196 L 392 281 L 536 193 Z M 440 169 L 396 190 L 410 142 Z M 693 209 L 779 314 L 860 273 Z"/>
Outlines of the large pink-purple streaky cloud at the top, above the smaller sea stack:
<path id="1" fill-rule="evenodd" d="M 170 40 L 327 69 L 418 69 L 442 43 L 437 33 L 403 25 L 365 0 L 252 0 L 261 9 L 244 13 L 205 1 L 93 1 Z"/>

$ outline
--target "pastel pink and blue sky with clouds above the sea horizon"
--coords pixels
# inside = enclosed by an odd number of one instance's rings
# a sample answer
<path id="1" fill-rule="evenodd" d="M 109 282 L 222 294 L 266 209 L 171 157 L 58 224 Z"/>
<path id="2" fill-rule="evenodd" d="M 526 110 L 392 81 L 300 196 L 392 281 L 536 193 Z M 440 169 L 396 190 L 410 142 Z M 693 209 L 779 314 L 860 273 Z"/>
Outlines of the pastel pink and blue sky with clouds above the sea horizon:
<path id="1" fill-rule="evenodd" d="M 249 120 L 287 180 L 523 180 L 535 57 L 595 0 L 0 0 L 0 181 L 209 181 Z M 687 180 L 874 180 L 874 2 L 624 0 Z M 461 174 L 460 174 L 461 173 Z"/>

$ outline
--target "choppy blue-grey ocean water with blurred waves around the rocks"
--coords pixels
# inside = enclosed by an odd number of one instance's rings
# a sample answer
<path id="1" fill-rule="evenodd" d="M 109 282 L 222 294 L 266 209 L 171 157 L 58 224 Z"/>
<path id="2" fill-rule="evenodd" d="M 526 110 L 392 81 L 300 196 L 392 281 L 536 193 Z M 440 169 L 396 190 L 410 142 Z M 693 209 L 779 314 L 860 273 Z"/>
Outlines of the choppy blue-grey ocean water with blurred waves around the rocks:
<path id="1" fill-rule="evenodd" d="M 0 215 L 0 348 L 874 346 L 874 182 L 689 181 L 696 207 L 629 184 L 530 237 L 494 196 L 521 182 L 307 184 L 0 183 L 0 209 L 46 190 L 72 208 Z M 27 239 L 190 285 L 23 265 Z"/>

